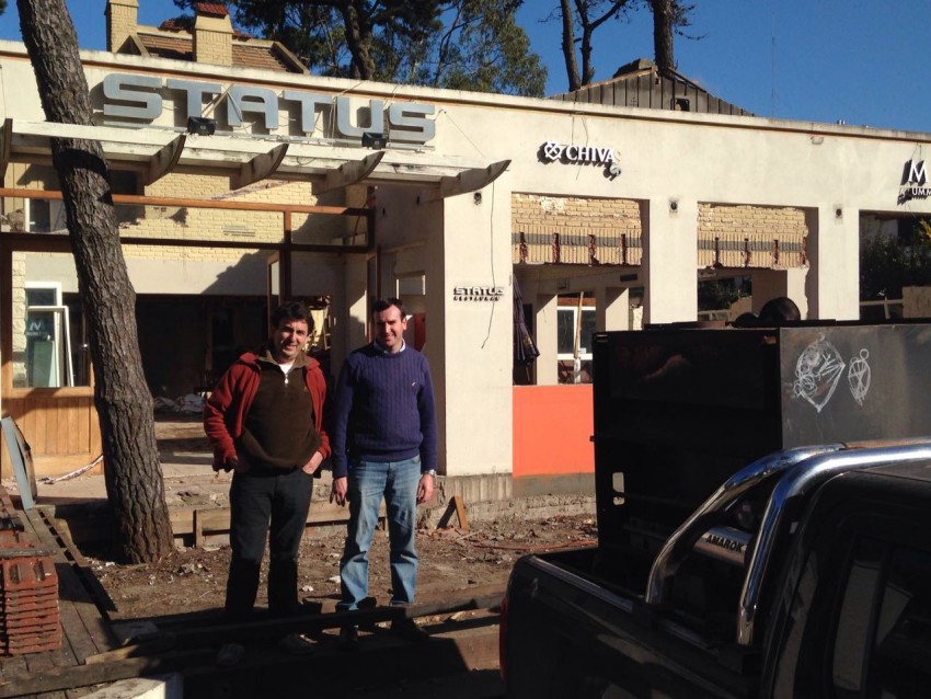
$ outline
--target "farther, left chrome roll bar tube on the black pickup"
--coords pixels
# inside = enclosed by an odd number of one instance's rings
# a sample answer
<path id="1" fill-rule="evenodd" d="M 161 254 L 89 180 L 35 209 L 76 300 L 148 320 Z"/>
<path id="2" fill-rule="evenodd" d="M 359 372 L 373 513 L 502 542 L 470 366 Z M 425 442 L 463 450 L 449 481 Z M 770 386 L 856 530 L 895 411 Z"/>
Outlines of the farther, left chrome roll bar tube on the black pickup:
<path id="1" fill-rule="evenodd" d="M 682 560 L 692 551 L 701 537 L 712 526 L 719 524 L 727 507 L 740 495 L 767 479 L 784 473 L 800 461 L 842 448 L 841 444 L 829 444 L 777 451 L 757 459 L 727 479 L 663 545 L 650 569 L 646 604 L 662 605 L 666 600 L 669 583 Z"/>

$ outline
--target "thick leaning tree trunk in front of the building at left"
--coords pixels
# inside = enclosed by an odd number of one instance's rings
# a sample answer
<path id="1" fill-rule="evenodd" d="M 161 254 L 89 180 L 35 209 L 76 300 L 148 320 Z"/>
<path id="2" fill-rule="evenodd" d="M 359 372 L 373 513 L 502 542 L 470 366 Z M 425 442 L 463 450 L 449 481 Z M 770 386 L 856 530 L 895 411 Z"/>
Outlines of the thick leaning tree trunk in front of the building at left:
<path id="1" fill-rule="evenodd" d="M 91 125 L 88 82 L 65 0 L 16 4 L 46 119 Z M 154 561 L 172 550 L 173 541 L 152 397 L 139 352 L 136 294 L 119 242 L 110 170 L 100 144 L 92 140 L 53 138 L 51 159 L 89 320 L 116 554 L 123 561 Z"/>

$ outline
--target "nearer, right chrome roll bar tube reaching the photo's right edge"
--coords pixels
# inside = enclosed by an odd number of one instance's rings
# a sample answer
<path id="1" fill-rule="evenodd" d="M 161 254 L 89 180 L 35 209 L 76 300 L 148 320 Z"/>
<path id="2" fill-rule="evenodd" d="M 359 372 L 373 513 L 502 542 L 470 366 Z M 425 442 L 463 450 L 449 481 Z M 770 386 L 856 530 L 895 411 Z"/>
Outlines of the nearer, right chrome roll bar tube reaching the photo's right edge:
<path id="1" fill-rule="evenodd" d="M 792 502 L 804 497 L 829 478 L 846 471 L 922 459 L 931 459 L 931 442 L 928 439 L 904 442 L 894 446 L 849 448 L 813 456 L 780 479 L 767 504 L 757 545 L 750 554 L 747 576 L 740 592 L 737 615 L 739 645 L 750 645 L 754 642 L 754 626 L 762 581 L 766 578 L 777 538 L 789 524 L 786 509 Z"/>

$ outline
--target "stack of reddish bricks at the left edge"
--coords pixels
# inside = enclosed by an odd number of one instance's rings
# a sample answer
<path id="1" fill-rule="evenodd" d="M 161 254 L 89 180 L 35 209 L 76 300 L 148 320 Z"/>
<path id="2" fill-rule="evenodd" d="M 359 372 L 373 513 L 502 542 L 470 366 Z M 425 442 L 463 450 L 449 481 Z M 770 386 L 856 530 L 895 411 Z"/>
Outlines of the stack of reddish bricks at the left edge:
<path id="1" fill-rule="evenodd" d="M 61 648 L 58 575 L 0 486 L 0 653 Z"/>

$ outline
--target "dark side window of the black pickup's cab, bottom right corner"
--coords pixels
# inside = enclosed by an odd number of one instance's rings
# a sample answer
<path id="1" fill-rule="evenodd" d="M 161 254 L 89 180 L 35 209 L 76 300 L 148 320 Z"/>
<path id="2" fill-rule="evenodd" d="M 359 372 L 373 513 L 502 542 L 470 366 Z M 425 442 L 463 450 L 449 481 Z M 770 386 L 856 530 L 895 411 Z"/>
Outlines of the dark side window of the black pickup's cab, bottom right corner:
<path id="1" fill-rule="evenodd" d="M 931 686 L 931 554 L 861 539 L 834 643 L 838 697 L 906 699 Z"/>

